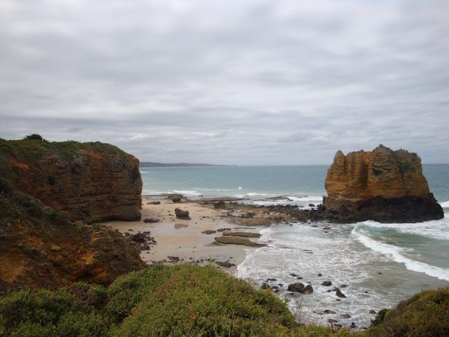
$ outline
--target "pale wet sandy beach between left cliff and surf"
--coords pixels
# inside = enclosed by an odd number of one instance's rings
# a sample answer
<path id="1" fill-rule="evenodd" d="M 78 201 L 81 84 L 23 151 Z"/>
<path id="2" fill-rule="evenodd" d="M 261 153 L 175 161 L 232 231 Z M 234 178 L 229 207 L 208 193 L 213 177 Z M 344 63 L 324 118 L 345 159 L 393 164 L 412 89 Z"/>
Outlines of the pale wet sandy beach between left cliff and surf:
<path id="1" fill-rule="evenodd" d="M 160 201 L 160 204 L 153 204 L 157 201 Z M 176 208 L 189 211 L 191 220 L 177 218 Z M 150 232 L 147 234 L 157 243 L 149 242 L 150 249 L 142 250 L 140 255 L 142 260 L 148 264 L 229 262 L 231 266 L 223 267 L 223 269 L 234 273 L 236 266 L 245 260 L 247 250 L 255 248 L 242 244 L 220 244 L 216 242 L 215 238 L 222 236 L 225 229 L 252 233 L 260 231 L 260 227 L 242 228 L 233 224 L 227 218 L 226 211 L 214 209 L 212 205 L 195 202 L 172 202 L 159 196 L 144 196 L 140 211 L 142 213 L 140 221 L 114 221 L 105 224 L 124 235 Z M 144 222 L 144 220 L 156 220 L 157 222 Z M 203 233 L 204 231 L 215 231 L 215 233 Z M 250 240 L 258 242 L 257 238 Z"/>

